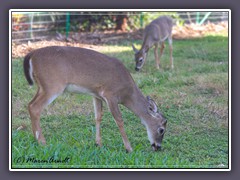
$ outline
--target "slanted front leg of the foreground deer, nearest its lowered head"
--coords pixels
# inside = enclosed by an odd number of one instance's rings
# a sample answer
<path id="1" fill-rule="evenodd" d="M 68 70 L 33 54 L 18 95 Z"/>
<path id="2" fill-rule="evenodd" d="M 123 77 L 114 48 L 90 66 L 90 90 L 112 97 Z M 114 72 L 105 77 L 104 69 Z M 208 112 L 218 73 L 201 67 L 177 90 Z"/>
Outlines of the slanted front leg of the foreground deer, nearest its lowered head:
<path id="1" fill-rule="evenodd" d="M 107 101 L 107 104 L 108 104 L 108 107 L 115 119 L 115 122 L 116 124 L 118 125 L 118 128 L 120 130 L 120 133 L 121 133 L 121 136 L 122 136 L 122 140 L 123 140 L 123 143 L 124 143 L 124 146 L 127 150 L 127 152 L 131 152 L 132 151 L 132 147 L 128 141 L 128 138 L 127 138 L 127 135 L 125 133 L 125 130 L 124 130 L 124 127 L 123 127 L 123 119 L 122 119 L 122 114 L 119 110 L 119 107 L 118 107 L 118 104 L 115 103 L 112 98 L 111 100 L 108 100 Z"/>

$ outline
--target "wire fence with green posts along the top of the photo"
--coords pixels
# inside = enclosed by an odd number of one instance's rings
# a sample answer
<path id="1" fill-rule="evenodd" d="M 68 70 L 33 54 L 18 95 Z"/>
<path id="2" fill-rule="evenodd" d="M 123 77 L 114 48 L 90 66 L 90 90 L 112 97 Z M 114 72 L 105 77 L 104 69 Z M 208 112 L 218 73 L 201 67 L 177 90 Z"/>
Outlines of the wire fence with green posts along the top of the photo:
<path id="1" fill-rule="evenodd" d="M 145 27 L 159 15 L 170 15 L 176 25 L 228 21 L 228 12 L 12 12 L 12 41 L 35 41 L 60 32 L 102 31 L 113 29 L 118 16 L 126 17 L 129 29 Z"/>

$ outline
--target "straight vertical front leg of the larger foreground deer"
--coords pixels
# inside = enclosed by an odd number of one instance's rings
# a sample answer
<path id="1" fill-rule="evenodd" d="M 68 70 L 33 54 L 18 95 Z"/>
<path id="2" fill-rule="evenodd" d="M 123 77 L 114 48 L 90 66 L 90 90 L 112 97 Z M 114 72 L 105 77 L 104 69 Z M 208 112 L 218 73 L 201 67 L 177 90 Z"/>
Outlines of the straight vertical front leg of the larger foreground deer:
<path id="1" fill-rule="evenodd" d="M 100 133 L 100 123 L 102 121 L 102 101 L 98 98 L 93 98 L 95 120 L 96 120 L 96 145 L 102 146 L 101 143 L 101 133 Z"/>

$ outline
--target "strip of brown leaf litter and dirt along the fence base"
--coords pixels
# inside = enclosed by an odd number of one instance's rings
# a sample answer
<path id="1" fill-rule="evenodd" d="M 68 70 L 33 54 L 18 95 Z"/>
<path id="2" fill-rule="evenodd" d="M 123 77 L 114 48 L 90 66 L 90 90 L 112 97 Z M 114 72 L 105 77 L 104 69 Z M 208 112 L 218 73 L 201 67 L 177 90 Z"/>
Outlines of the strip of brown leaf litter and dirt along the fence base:
<path id="1" fill-rule="evenodd" d="M 203 37 L 210 33 L 228 32 L 228 22 L 205 25 L 186 24 L 173 27 L 173 39 L 190 39 Z M 134 41 L 142 39 L 143 30 L 133 32 L 122 31 L 95 31 L 93 33 L 70 33 L 66 38 L 57 33 L 55 37 L 35 42 L 12 43 L 12 58 L 24 57 L 28 52 L 46 46 L 75 46 L 100 50 L 106 43 L 119 43 L 120 41 Z"/>

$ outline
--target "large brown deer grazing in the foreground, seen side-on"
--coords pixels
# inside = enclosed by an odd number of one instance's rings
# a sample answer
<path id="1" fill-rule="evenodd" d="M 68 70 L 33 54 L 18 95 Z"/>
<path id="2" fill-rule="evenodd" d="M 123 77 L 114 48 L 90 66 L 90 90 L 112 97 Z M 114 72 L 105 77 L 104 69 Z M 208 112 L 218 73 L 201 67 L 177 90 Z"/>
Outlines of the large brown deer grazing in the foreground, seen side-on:
<path id="1" fill-rule="evenodd" d="M 100 123 L 105 102 L 127 152 L 133 149 L 124 130 L 120 104 L 141 119 L 152 149 L 161 149 L 167 120 L 154 100 L 141 93 L 120 60 L 91 49 L 47 46 L 28 53 L 24 57 L 23 69 L 29 85 L 37 84 L 37 93 L 29 102 L 28 111 L 38 144 L 46 145 L 40 126 L 41 112 L 62 93 L 70 92 L 93 97 L 97 146 L 102 146 Z"/>

